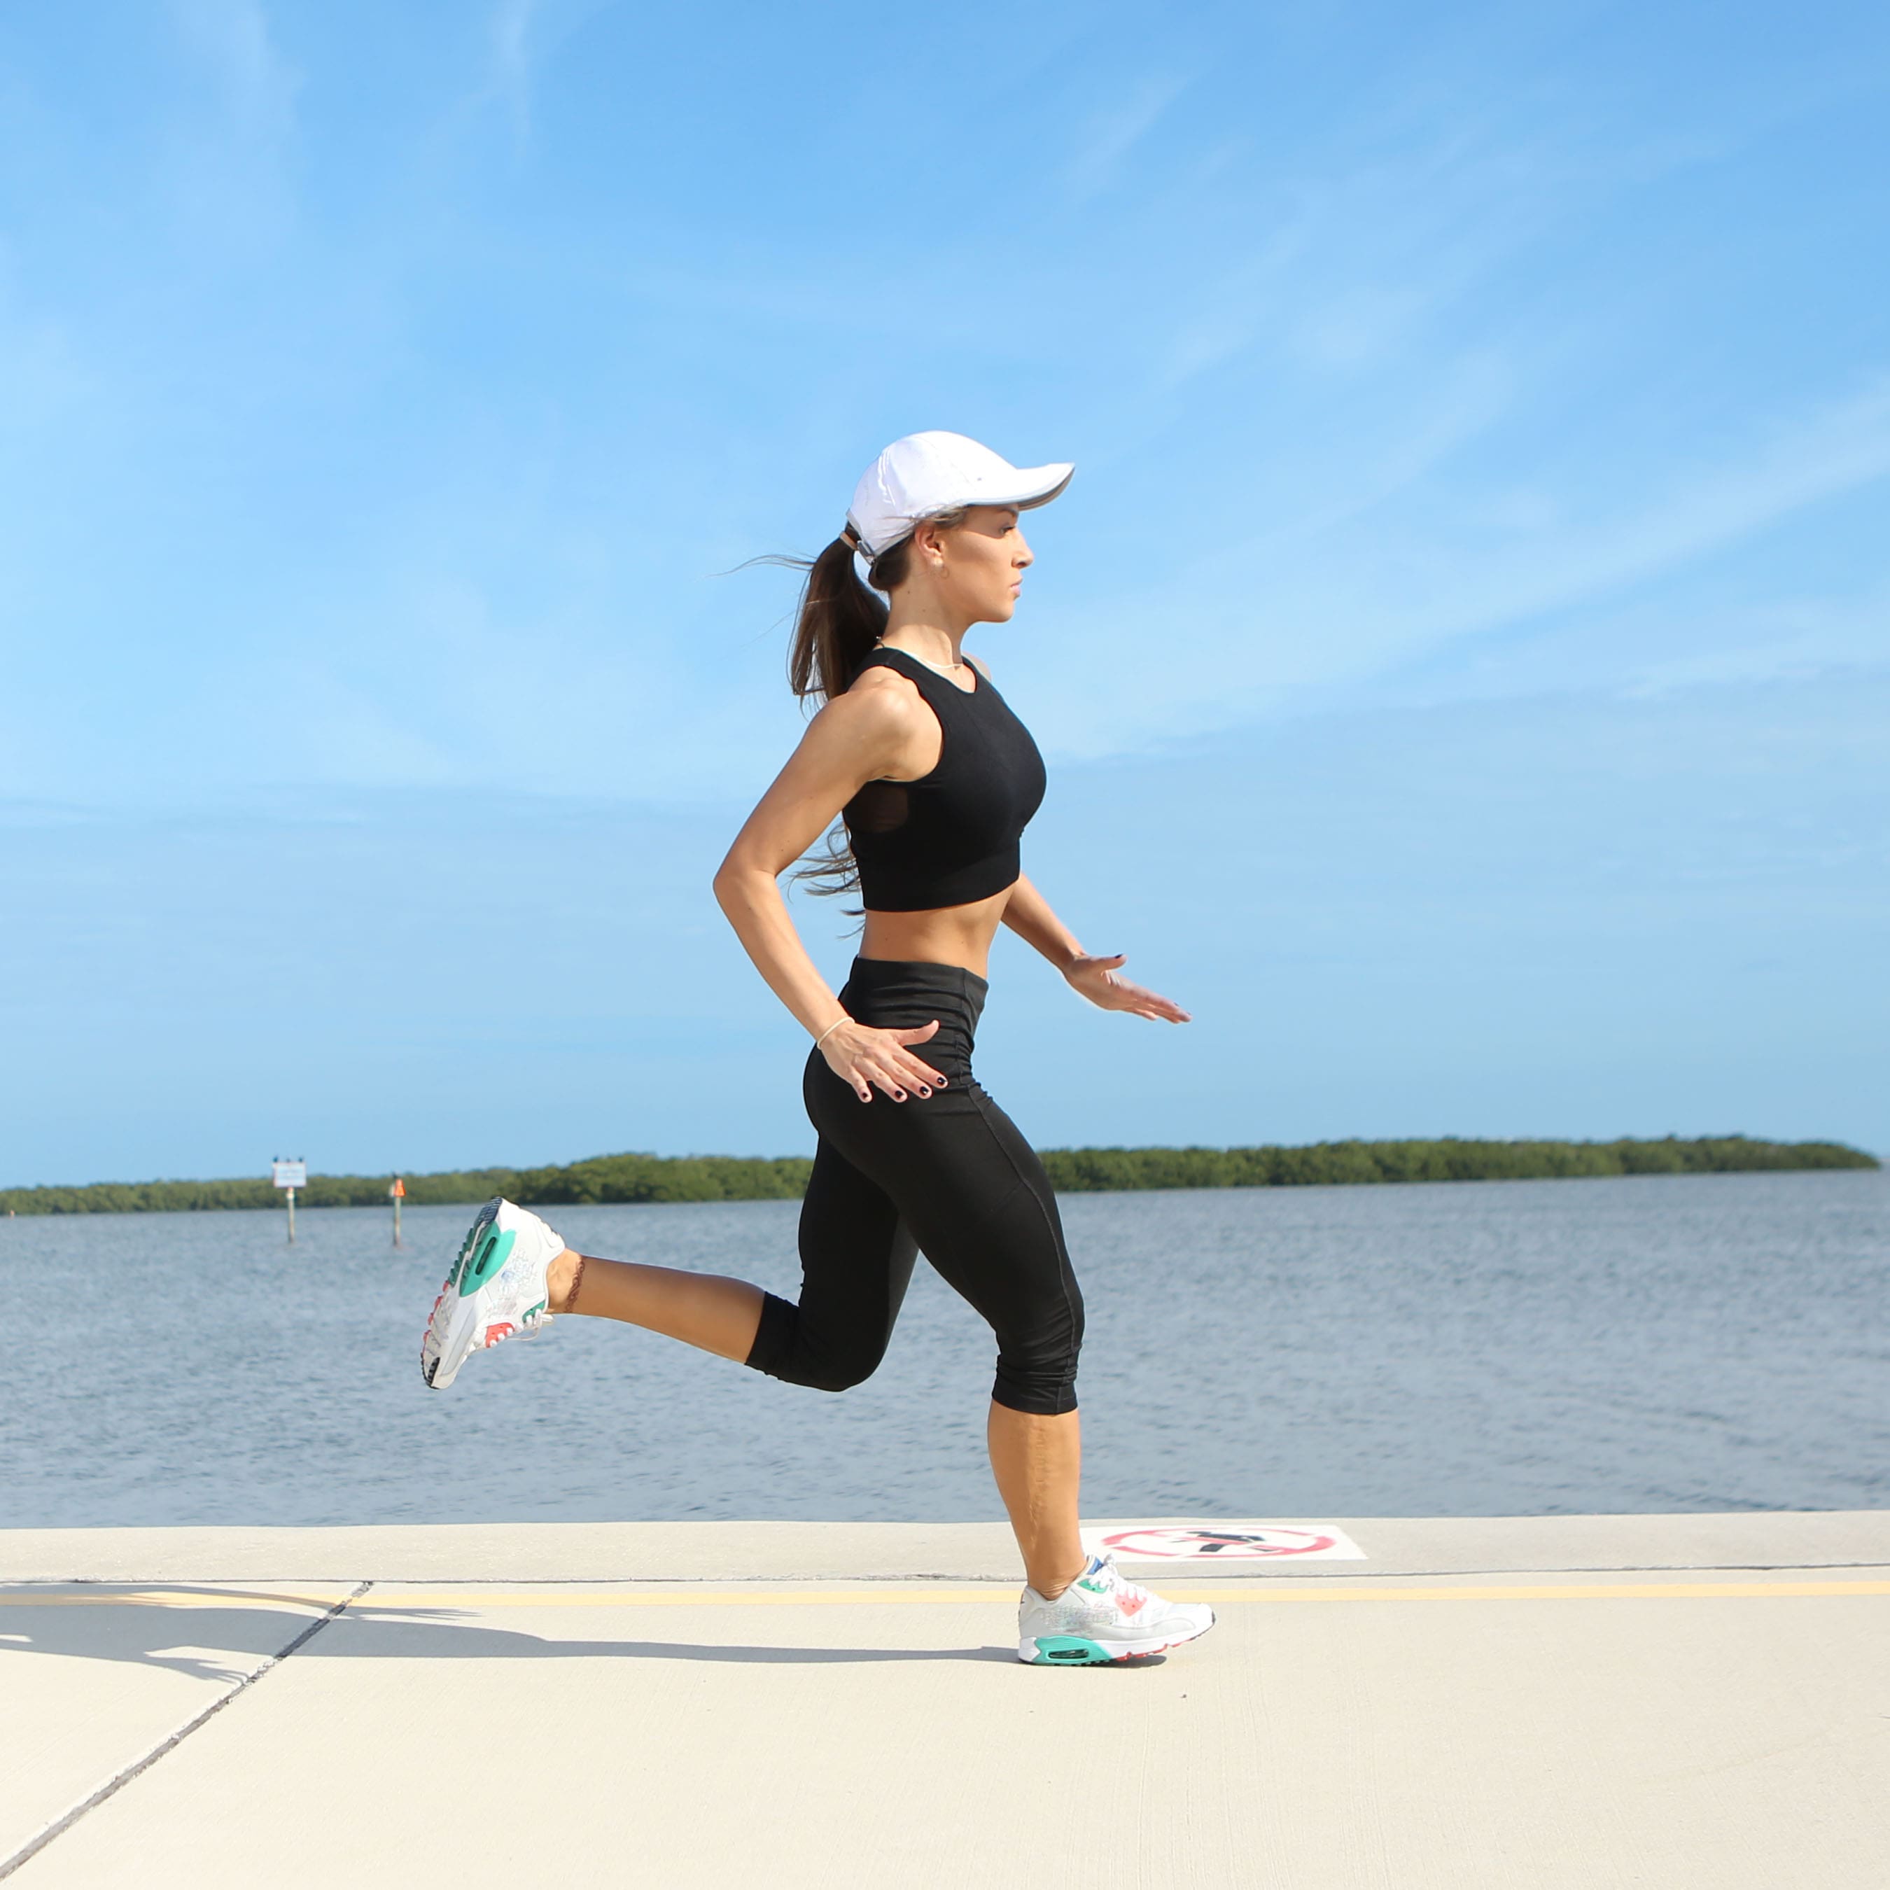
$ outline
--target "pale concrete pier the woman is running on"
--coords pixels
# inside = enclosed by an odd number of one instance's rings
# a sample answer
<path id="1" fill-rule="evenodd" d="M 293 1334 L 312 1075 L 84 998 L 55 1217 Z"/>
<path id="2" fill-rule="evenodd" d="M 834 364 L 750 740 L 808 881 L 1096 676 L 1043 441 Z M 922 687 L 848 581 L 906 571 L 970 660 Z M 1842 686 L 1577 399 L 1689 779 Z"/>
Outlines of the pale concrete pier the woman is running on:
<path id="1" fill-rule="evenodd" d="M 996 1523 L 0 1533 L 23 1890 L 1873 1890 L 1890 1514 L 1334 1520 L 1015 1659 Z"/>

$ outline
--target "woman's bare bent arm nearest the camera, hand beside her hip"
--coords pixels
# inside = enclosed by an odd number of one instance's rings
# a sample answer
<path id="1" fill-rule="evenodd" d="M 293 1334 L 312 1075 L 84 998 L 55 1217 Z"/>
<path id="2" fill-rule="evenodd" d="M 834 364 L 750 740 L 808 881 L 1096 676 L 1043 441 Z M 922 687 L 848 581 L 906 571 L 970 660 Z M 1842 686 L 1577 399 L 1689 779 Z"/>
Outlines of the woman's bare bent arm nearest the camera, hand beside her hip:
<path id="1" fill-rule="evenodd" d="M 873 1030 L 847 1017 L 807 956 L 779 881 L 868 781 L 907 771 L 902 765 L 905 750 L 915 737 L 922 739 L 913 714 L 919 707 L 886 688 L 856 688 L 830 701 L 807 724 L 788 765 L 756 803 L 714 875 L 716 903 L 769 990 L 818 1040 L 828 1068 L 849 1081 L 862 1102 L 873 1100 L 873 1085 L 903 1102 L 909 1091 L 928 1094 L 945 1083 L 907 1049 L 930 1038 L 937 1024 Z"/>

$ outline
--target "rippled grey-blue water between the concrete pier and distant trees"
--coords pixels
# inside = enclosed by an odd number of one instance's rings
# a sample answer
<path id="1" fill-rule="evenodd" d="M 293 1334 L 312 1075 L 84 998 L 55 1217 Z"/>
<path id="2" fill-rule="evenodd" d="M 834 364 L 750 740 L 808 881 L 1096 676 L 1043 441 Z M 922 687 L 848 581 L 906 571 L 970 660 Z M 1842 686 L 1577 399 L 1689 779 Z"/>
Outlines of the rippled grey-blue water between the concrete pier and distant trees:
<path id="1" fill-rule="evenodd" d="M 1890 1176 L 1089 1194 L 1089 1514 L 1890 1506 Z M 576 1208 L 794 1293 L 794 1204 Z M 990 1342 L 920 1270 L 830 1399 L 563 1319 L 420 1383 L 471 1210 L 0 1221 L 0 1521 L 1002 1514 Z"/>

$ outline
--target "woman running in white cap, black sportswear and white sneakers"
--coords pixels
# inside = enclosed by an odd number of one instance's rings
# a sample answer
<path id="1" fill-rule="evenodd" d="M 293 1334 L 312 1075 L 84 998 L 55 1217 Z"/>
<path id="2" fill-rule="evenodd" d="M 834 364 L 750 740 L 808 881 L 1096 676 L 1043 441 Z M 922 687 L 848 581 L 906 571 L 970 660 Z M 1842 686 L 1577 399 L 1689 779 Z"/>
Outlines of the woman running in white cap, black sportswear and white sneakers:
<path id="1" fill-rule="evenodd" d="M 824 707 L 714 879 L 756 970 L 813 1038 L 801 1092 L 818 1145 L 799 1302 L 575 1253 L 535 1213 L 493 1200 L 421 1342 L 425 1382 L 444 1389 L 472 1351 L 576 1312 L 845 1391 L 885 1355 L 924 1253 L 998 1340 L 990 1467 L 1028 1582 L 1017 1652 L 1040 1665 L 1134 1659 L 1213 1625 L 1211 1608 L 1164 1603 L 1083 1552 L 1083 1297 L 1041 1162 L 971 1075 L 1000 922 L 1102 1009 L 1187 1021 L 1119 977 L 1121 956 L 1085 953 L 1019 871 L 1043 762 L 990 671 L 964 654 L 973 624 L 1005 624 L 1017 609 L 1032 561 L 1019 512 L 1055 499 L 1070 472 L 1013 467 L 958 433 L 915 433 L 873 461 L 847 529 L 807 575 L 790 679 Z M 835 816 L 835 864 L 856 871 L 866 907 L 839 996 L 779 886 Z"/>

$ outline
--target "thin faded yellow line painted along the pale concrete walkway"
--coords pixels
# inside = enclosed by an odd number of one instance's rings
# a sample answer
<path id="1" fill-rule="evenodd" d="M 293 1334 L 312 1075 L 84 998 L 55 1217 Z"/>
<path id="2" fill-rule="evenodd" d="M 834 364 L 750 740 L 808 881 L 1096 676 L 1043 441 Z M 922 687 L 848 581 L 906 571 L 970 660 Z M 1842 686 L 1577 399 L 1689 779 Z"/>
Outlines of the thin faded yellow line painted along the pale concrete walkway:
<path id="1" fill-rule="evenodd" d="M 1215 1606 L 1304 1601 L 1775 1601 L 1813 1595 L 1890 1595 L 1890 1582 L 1565 1582 L 1554 1586 L 1482 1588 L 1315 1588 L 1280 1582 L 1253 1588 L 1168 1588 L 1170 1601 L 1210 1601 Z M 138 1589 L 98 1595 L 42 1595 L 0 1589 L 0 1608 L 229 1608 L 253 1603 L 270 1608 L 333 1608 L 344 1593 L 261 1595 L 229 1589 L 166 1593 Z M 488 1608 L 949 1608 L 985 1603 L 1013 1606 L 1017 1591 L 998 1588 L 856 1588 L 856 1589 L 607 1589 L 601 1593 L 438 1589 L 393 1593 L 380 1589 L 353 1605 L 352 1614 L 384 1618 L 429 1608 L 486 1612 Z"/>

